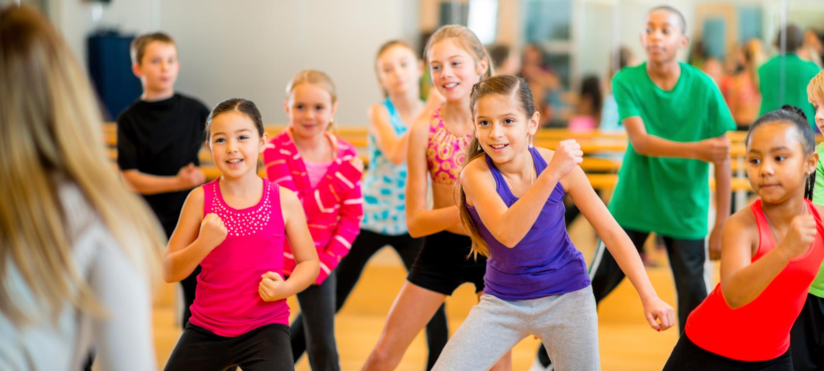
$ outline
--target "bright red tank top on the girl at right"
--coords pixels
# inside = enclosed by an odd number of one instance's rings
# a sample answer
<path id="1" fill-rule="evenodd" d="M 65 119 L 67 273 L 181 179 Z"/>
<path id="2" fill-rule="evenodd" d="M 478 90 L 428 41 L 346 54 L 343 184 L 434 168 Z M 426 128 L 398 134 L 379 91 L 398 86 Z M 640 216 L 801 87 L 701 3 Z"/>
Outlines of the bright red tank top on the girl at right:
<path id="1" fill-rule="evenodd" d="M 775 276 L 750 304 L 732 309 L 721 293 L 721 284 L 686 319 L 684 332 L 695 345 L 717 355 L 743 361 L 775 359 L 789 349 L 789 329 L 801 313 L 812 279 L 824 260 L 824 226 L 812 202 L 804 200 L 816 220 L 812 248 Z M 758 250 L 751 262 L 775 248 L 761 199 L 752 202 L 758 224 Z"/>

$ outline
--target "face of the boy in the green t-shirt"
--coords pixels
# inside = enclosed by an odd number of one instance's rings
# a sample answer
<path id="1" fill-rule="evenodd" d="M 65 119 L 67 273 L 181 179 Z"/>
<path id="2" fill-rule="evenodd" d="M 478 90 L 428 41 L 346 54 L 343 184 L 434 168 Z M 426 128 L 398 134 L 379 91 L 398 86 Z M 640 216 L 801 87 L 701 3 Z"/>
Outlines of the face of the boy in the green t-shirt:
<path id="1" fill-rule="evenodd" d="M 669 63 L 675 60 L 678 50 L 686 48 L 680 17 L 666 9 L 649 12 L 647 24 L 641 34 L 641 46 L 647 60 L 653 63 Z"/>

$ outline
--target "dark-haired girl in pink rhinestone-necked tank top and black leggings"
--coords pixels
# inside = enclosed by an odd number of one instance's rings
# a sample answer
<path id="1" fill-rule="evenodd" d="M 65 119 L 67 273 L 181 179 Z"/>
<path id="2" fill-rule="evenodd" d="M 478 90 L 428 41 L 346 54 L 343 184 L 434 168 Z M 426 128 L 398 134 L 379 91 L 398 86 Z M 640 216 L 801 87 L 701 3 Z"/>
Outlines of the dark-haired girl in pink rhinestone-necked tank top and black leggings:
<path id="1" fill-rule="evenodd" d="M 165 369 L 293 370 L 286 298 L 320 270 L 306 216 L 294 192 L 257 174 L 268 138 L 254 103 L 219 103 L 205 139 L 222 176 L 192 190 L 166 247 L 166 282 L 203 270 Z M 284 280 L 286 240 L 297 267 Z"/>

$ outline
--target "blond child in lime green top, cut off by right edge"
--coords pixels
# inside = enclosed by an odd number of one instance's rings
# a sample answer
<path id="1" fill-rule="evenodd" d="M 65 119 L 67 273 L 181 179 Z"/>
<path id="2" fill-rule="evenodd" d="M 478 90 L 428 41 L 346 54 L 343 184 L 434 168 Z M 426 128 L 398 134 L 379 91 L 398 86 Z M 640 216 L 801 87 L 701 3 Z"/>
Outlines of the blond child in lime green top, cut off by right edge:
<path id="1" fill-rule="evenodd" d="M 807 96 L 813 109 L 818 131 L 824 130 L 824 72 L 818 72 L 807 86 Z M 808 117 L 809 118 L 809 117 Z M 824 143 L 816 146 L 815 186 L 812 188 L 812 203 L 824 205 Z M 793 355 L 793 369 L 824 369 L 824 265 L 810 285 L 810 293 L 804 308 L 798 314 L 793 329 L 789 332 L 790 353 Z"/>

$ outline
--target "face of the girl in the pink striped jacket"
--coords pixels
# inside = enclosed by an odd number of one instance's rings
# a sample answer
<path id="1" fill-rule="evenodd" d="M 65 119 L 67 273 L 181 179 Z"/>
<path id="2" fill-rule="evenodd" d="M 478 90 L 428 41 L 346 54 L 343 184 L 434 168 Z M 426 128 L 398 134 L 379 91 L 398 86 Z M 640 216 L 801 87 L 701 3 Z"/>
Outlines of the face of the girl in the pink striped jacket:
<path id="1" fill-rule="evenodd" d="M 329 91 L 310 83 L 294 86 L 284 105 L 293 134 L 302 138 L 323 135 L 338 109 Z"/>

